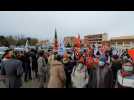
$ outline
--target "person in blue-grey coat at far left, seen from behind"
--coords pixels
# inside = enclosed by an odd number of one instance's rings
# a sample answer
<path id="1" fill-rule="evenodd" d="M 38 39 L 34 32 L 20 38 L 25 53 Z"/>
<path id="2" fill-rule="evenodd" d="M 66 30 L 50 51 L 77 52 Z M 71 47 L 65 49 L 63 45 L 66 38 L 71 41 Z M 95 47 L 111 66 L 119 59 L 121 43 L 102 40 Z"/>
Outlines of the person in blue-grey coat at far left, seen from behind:
<path id="1" fill-rule="evenodd" d="M 6 88 L 20 88 L 22 86 L 21 77 L 23 75 L 22 62 L 13 59 L 13 51 L 6 50 L 1 63 L 1 75 Z"/>

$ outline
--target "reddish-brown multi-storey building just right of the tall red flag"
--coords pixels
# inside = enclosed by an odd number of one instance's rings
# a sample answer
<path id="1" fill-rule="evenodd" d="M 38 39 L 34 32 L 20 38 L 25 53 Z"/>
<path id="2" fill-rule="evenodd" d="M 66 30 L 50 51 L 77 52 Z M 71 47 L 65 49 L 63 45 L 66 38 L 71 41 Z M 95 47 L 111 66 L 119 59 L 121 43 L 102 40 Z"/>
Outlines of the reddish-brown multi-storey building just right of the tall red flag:
<path id="1" fill-rule="evenodd" d="M 108 39 L 108 36 L 106 33 L 84 36 L 85 46 L 91 46 L 91 45 L 96 44 L 96 43 L 99 46 L 101 46 L 102 42 L 107 41 L 107 39 Z"/>

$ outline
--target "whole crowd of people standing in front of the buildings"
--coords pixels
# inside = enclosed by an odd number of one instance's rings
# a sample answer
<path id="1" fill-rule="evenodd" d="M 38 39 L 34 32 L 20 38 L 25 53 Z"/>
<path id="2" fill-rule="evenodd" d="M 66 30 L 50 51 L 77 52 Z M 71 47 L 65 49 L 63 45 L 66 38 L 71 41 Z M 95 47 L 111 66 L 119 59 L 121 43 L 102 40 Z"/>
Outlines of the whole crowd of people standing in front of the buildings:
<path id="1" fill-rule="evenodd" d="M 20 88 L 22 80 L 33 79 L 39 80 L 39 88 L 115 88 L 121 87 L 117 72 L 123 68 L 133 72 L 133 66 L 127 49 L 74 48 L 64 55 L 34 49 L 21 53 L 6 50 L 0 78 L 7 88 Z M 122 76 L 129 74 L 122 71 Z"/>

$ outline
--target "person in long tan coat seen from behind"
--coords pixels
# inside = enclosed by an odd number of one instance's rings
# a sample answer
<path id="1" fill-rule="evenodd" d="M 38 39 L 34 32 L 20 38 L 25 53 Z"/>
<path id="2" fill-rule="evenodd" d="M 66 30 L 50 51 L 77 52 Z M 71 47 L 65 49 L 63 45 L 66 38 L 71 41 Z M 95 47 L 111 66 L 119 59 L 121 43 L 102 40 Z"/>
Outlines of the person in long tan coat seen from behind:
<path id="1" fill-rule="evenodd" d="M 64 66 L 60 61 L 61 61 L 60 56 L 57 56 L 54 60 L 51 61 L 50 79 L 47 86 L 48 88 L 65 87 L 66 76 Z"/>

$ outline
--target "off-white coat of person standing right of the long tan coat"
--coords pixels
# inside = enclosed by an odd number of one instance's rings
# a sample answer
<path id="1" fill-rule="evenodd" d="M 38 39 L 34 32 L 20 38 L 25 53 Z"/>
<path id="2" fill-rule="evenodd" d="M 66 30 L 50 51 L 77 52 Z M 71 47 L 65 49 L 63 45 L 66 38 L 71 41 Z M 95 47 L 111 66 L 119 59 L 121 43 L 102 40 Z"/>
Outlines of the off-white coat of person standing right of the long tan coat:
<path id="1" fill-rule="evenodd" d="M 88 84 L 88 79 L 88 71 L 83 64 L 80 63 L 74 67 L 71 74 L 73 87 L 84 88 Z"/>

